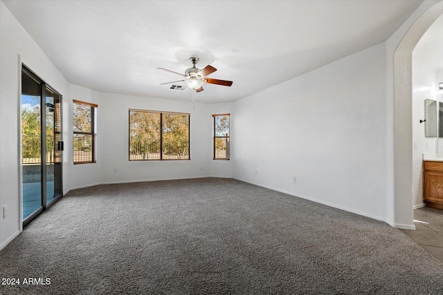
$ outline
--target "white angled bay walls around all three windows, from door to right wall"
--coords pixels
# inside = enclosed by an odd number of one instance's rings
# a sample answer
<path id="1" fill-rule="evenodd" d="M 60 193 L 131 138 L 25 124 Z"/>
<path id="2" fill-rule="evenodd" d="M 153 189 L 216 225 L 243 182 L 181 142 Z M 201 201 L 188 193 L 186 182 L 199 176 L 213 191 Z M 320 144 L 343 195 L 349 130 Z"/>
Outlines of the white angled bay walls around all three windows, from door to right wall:
<path id="1" fill-rule="evenodd" d="M 97 184 L 168 180 L 201 177 L 233 177 L 232 161 L 213 159 L 213 117 L 215 113 L 231 113 L 232 103 L 199 104 L 170 99 L 156 99 L 131 95 L 100 93 L 71 84 L 69 87 L 68 132 L 72 134 L 72 100 L 98 104 L 97 162 L 73 164 L 72 141 L 65 147 L 69 155 L 69 179 L 65 179 L 65 193 L 69 189 Z M 190 113 L 190 156 L 183 161 L 128 160 L 128 110 Z M 116 172 L 114 172 L 116 171 Z"/>

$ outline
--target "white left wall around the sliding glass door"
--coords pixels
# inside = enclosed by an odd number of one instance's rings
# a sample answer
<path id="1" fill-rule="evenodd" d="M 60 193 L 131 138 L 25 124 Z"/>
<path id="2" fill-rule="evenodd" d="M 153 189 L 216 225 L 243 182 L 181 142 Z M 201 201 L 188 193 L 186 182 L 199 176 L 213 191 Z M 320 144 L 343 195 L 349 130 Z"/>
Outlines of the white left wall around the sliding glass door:
<path id="1" fill-rule="evenodd" d="M 0 209 L 8 207 L 8 217 L 0 216 L 0 249 L 21 229 L 20 200 L 20 70 L 23 62 L 31 70 L 64 95 L 68 82 L 43 51 L 0 1 Z M 66 109 L 66 100 L 63 102 Z M 64 122 L 65 123 L 65 122 Z M 67 131 L 64 129 L 63 139 Z M 66 163 L 66 155 L 63 157 Z M 69 175 L 68 171 L 63 171 Z"/>

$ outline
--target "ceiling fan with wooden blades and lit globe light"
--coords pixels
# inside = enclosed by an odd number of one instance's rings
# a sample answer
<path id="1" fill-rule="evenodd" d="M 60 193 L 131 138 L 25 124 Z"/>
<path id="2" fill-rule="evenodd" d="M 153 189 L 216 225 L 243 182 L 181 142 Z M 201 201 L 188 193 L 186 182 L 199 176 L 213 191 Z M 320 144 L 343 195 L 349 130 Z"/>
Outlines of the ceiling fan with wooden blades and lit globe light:
<path id="1" fill-rule="evenodd" d="M 213 66 L 208 65 L 200 70 L 199 68 L 197 68 L 195 66 L 197 64 L 197 62 L 199 62 L 198 57 L 190 57 L 189 60 L 192 62 L 192 68 L 187 68 L 185 70 L 185 75 L 183 75 L 181 73 L 174 72 L 172 70 L 168 70 L 166 68 L 157 68 L 158 70 L 166 70 L 170 73 L 174 73 L 174 74 L 181 75 L 184 77 L 183 80 L 166 82 L 166 83 L 162 83 L 160 85 L 170 84 L 170 83 L 175 83 L 175 82 L 184 82 L 186 84 L 186 86 L 188 86 L 189 88 L 194 89 L 196 92 L 200 92 L 200 91 L 204 91 L 204 89 L 203 89 L 204 83 L 217 84 L 217 85 L 222 85 L 222 86 L 231 86 L 233 84 L 232 81 L 207 78 L 206 76 L 211 73 L 214 73 L 217 70 L 217 68 L 214 68 Z"/>

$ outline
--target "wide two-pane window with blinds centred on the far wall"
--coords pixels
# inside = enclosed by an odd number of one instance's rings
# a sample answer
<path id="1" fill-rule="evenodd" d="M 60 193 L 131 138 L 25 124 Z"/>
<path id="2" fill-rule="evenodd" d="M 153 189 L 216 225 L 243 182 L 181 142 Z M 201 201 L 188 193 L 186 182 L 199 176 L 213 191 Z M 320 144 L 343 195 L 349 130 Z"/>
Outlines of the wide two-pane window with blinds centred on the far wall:
<path id="1" fill-rule="evenodd" d="M 129 110 L 129 161 L 190 160 L 190 114 Z"/>

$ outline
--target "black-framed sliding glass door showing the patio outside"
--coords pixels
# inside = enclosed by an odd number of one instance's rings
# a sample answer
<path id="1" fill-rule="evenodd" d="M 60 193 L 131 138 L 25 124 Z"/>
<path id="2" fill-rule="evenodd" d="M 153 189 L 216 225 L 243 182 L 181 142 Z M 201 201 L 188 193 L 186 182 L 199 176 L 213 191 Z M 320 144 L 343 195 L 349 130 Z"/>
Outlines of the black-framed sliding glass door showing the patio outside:
<path id="1" fill-rule="evenodd" d="M 24 226 L 62 196 L 61 95 L 21 70 L 21 168 Z"/>

